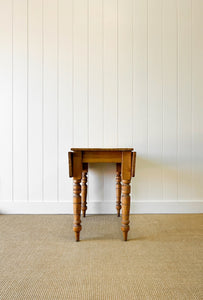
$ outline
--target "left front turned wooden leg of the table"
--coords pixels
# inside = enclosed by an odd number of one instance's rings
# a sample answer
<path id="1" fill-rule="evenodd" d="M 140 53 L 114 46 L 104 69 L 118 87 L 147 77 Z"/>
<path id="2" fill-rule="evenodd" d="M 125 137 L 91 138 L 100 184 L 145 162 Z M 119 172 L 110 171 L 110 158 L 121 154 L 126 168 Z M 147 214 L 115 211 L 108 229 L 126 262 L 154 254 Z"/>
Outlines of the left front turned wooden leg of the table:
<path id="1" fill-rule="evenodd" d="M 78 242 L 80 240 L 80 231 L 82 229 L 80 214 L 81 214 L 81 179 L 73 178 L 73 231 L 75 232 L 75 240 Z"/>

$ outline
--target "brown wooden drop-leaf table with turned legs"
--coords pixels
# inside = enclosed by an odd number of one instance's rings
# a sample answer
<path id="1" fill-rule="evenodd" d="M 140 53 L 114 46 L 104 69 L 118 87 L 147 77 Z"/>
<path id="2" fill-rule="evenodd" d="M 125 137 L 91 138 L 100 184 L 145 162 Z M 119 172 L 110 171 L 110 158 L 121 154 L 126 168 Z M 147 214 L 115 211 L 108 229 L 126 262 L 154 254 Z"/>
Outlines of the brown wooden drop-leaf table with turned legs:
<path id="1" fill-rule="evenodd" d="M 83 217 L 85 217 L 87 210 L 88 163 L 116 163 L 116 209 L 119 217 L 122 208 L 121 230 L 124 241 L 127 241 L 130 229 L 130 182 L 131 177 L 135 176 L 136 152 L 133 151 L 133 148 L 71 148 L 68 157 L 69 177 L 73 177 L 73 231 L 75 232 L 75 240 L 80 240 L 81 210 Z"/>

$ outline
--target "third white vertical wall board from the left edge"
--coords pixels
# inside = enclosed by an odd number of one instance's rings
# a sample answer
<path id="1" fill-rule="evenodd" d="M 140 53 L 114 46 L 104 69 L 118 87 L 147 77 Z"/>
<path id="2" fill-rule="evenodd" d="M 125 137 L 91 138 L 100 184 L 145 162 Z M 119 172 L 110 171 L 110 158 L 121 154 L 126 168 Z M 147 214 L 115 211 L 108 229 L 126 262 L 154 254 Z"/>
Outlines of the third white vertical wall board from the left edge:
<path id="1" fill-rule="evenodd" d="M 42 201 L 42 1 L 28 4 L 29 201 Z"/>

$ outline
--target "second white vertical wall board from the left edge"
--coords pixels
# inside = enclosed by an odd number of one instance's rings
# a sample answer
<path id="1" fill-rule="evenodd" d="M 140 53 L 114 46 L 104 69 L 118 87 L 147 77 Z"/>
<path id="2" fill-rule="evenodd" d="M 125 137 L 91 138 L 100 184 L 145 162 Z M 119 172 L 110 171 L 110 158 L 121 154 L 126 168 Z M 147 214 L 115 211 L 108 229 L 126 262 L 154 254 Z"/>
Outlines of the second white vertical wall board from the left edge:
<path id="1" fill-rule="evenodd" d="M 27 1 L 13 1 L 13 197 L 27 201 Z"/>

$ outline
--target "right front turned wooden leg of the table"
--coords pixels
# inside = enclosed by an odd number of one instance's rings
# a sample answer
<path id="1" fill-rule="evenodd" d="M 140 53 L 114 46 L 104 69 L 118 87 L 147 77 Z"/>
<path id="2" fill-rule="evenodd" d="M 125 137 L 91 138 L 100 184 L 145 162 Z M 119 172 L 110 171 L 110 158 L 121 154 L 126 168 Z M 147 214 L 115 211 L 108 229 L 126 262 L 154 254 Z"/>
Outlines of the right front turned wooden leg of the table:
<path id="1" fill-rule="evenodd" d="M 127 241 L 130 212 L 130 180 L 122 180 L 122 225 L 123 239 Z"/>

